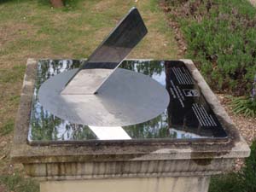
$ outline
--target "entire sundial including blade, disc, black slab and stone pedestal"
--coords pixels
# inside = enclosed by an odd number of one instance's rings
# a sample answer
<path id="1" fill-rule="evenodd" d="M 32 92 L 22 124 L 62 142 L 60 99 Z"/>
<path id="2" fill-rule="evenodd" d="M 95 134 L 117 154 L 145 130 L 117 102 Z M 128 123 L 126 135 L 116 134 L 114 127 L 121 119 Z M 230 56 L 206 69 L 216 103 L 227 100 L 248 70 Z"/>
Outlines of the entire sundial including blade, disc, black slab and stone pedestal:
<path id="1" fill-rule="evenodd" d="M 41 192 L 207 192 L 249 155 L 193 61 L 125 59 L 146 33 L 133 8 L 87 60 L 27 61 L 11 157 Z"/>

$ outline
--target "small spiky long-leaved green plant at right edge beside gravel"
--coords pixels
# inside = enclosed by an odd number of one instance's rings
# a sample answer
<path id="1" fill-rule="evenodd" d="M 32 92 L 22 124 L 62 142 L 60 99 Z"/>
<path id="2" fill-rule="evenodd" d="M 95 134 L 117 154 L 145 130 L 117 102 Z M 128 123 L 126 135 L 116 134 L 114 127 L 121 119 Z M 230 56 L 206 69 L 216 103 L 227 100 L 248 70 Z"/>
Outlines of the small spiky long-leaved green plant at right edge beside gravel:
<path id="1" fill-rule="evenodd" d="M 246 117 L 256 116 L 256 101 L 253 98 L 237 97 L 230 104 L 234 113 L 241 113 Z"/>

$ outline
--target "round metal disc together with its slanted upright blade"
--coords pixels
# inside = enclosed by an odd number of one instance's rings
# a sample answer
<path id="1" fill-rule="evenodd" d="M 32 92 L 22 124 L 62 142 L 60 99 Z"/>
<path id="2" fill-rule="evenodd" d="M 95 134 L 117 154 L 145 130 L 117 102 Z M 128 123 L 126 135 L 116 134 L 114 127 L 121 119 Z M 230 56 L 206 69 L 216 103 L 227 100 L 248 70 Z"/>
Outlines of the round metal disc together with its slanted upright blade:
<path id="1" fill-rule="evenodd" d="M 169 103 L 166 89 L 146 75 L 117 68 L 146 34 L 141 15 L 131 9 L 81 67 L 42 84 L 39 102 L 81 125 L 135 125 L 155 118 Z"/>

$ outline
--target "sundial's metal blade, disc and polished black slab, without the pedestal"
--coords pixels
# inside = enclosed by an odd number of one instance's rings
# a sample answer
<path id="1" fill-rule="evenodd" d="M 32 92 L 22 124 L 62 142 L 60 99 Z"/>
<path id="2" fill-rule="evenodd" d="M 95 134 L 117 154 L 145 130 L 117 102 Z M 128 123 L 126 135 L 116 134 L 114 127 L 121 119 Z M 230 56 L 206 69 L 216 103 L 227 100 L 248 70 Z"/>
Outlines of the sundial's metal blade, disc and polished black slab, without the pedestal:
<path id="1" fill-rule="evenodd" d="M 38 61 L 29 143 L 226 139 L 188 64 L 125 60 L 147 32 L 132 8 L 87 60 Z"/>

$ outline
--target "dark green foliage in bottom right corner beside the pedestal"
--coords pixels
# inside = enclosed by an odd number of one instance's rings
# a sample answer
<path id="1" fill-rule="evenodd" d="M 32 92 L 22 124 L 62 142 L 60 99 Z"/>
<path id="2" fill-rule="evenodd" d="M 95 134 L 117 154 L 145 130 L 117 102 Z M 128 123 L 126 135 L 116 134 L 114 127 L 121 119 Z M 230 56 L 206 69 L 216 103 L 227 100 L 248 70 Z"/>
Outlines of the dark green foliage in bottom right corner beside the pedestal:
<path id="1" fill-rule="evenodd" d="M 251 146 L 251 155 L 245 160 L 241 172 L 212 177 L 209 192 L 254 192 L 256 191 L 256 141 Z"/>

